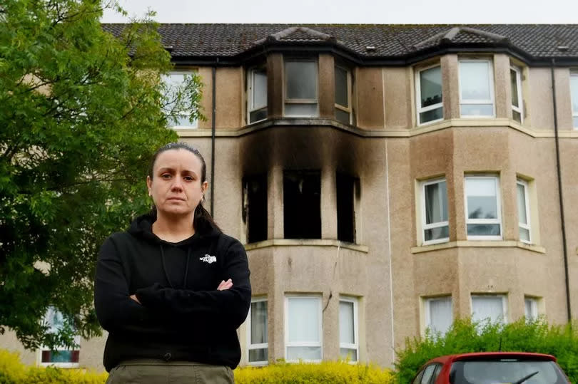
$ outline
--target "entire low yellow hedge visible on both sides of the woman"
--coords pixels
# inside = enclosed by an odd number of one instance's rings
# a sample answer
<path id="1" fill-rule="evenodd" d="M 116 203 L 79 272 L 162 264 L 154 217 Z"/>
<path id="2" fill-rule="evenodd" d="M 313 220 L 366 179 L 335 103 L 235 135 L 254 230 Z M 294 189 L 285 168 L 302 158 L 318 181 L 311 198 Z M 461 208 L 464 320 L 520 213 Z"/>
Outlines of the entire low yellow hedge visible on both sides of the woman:
<path id="1" fill-rule="evenodd" d="M 0 349 L 0 384 L 103 384 L 108 373 L 83 369 L 28 367 L 17 353 Z M 393 383 L 391 370 L 377 365 L 350 364 L 345 361 L 313 363 L 276 363 L 265 367 L 235 369 L 237 384 L 324 384 Z"/>

